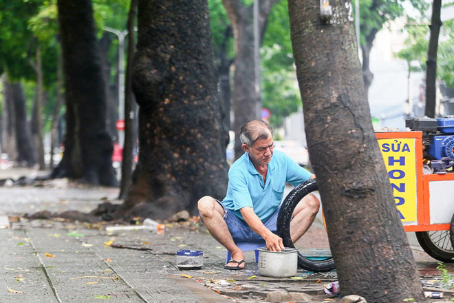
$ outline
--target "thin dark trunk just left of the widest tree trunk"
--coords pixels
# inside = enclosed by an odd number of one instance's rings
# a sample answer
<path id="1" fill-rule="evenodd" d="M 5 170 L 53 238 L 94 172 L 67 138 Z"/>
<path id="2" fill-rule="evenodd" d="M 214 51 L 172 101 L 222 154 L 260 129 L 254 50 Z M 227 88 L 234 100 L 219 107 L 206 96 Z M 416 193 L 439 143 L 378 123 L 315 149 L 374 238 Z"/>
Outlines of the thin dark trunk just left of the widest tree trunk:
<path id="1" fill-rule="evenodd" d="M 133 165 L 133 123 L 136 116 L 133 111 L 134 96 L 132 92 L 132 69 L 133 69 L 133 56 L 136 51 L 136 38 L 134 34 L 134 26 L 137 16 L 137 0 L 131 0 L 129 8 L 127 29 L 129 35 L 128 49 L 127 49 L 127 67 L 126 67 L 126 80 L 125 80 L 125 146 L 123 147 L 122 166 L 121 166 L 121 182 L 120 182 L 120 195 L 118 198 L 125 199 L 127 191 L 131 187 L 132 165 Z"/>

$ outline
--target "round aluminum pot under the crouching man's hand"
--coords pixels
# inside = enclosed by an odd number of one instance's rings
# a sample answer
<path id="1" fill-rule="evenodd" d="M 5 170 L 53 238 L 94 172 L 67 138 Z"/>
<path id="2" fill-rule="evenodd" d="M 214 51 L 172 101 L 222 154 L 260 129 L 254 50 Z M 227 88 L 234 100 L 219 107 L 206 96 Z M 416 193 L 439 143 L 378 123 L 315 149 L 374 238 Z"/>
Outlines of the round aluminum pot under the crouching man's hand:
<path id="1" fill-rule="evenodd" d="M 292 277 L 298 269 L 298 249 L 285 247 L 282 251 L 259 248 L 259 273 L 268 277 Z"/>

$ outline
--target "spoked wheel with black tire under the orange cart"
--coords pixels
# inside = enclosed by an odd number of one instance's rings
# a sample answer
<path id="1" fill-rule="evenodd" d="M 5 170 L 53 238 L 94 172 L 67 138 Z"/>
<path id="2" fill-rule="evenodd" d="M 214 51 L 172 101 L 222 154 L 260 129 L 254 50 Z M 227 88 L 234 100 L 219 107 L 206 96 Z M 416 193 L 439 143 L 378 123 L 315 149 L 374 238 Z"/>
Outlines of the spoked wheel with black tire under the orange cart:
<path id="1" fill-rule="evenodd" d="M 451 223 L 451 228 L 452 226 Z M 415 233 L 422 249 L 432 258 L 443 262 L 454 262 L 454 248 L 451 244 L 450 231 L 417 231 Z"/>

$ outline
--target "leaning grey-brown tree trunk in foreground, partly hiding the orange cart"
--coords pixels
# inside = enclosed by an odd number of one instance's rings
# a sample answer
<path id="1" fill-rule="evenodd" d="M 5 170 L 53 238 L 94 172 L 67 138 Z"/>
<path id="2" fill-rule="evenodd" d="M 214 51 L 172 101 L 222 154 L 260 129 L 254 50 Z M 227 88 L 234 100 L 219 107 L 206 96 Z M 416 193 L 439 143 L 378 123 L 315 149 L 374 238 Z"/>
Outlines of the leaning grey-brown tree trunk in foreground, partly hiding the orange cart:
<path id="1" fill-rule="evenodd" d="M 423 299 L 418 271 L 371 125 L 346 1 L 289 0 L 292 45 L 310 161 L 340 289 L 367 302 Z M 347 3 L 348 4 L 348 3 Z"/>

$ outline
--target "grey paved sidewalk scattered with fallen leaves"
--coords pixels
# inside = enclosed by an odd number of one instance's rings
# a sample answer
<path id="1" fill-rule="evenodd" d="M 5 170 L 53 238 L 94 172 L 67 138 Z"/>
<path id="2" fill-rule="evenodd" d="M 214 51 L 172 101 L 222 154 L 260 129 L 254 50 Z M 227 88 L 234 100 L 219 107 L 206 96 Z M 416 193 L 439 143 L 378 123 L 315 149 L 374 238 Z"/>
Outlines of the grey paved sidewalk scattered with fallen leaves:
<path id="1" fill-rule="evenodd" d="M 107 224 L 22 218 L 44 209 L 88 212 L 117 196 L 118 189 L 62 181 L 52 187 L 0 187 L 0 214 L 10 219 L 10 228 L 0 230 L 0 302 L 279 302 L 272 300 L 276 293 L 290 293 L 287 301 L 340 301 L 323 293 L 323 284 L 337 279 L 335 271 L 299 270 L 300 279 L 260 277 L 252 251 L 246 253 L 246 270 L 224 270 L 226 249 L 196 222 L 169 224 L 164 233 L 107 233 Z M 317 241 L 305 242 L 307 248 L 323 247 L 318 236 L 323 229 L 311 233 L 307 238 Z M 150 250 L 133 249 L 138 247 Z M 178 269 L 178 249 L 203 250 L 204 267 Z M 422 274 L 440 275 L 436 260 L 413 251 Z"/>

